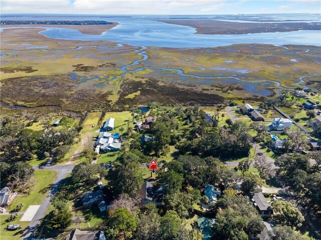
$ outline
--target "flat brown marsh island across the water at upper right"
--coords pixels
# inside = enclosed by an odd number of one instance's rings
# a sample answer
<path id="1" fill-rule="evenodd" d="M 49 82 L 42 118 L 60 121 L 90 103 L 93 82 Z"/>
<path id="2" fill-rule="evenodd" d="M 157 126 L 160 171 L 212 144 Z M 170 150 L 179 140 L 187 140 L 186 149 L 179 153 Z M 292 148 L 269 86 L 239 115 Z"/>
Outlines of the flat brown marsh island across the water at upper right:
<path id="1" fill-rule="evenodd" d="M 248 34 L 267 32 L 287 32 L 298 30 L 321 30 L 320 22 L 232 22 L 212 19 L 156 20 L 169 24 L 191 26 L 198 34 Z"/>

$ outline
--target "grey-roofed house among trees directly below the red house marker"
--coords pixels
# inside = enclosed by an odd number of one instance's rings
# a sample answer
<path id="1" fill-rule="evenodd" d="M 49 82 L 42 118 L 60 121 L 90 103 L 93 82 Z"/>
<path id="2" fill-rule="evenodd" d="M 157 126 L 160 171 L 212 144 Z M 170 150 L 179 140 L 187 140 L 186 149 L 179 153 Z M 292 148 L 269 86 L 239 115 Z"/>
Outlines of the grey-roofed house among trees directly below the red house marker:
<path id="1" fill-rule="evenodd" d="M 154 187 L 153 180 L 145 180 L 141 186 L 141 198 L 142 203 L 147 204 L 148 202 L 153 202 L 156 205 L 162 205 L 162 196 L 165 193 L 164 187 L 159 187 L 156 189 Z"/>

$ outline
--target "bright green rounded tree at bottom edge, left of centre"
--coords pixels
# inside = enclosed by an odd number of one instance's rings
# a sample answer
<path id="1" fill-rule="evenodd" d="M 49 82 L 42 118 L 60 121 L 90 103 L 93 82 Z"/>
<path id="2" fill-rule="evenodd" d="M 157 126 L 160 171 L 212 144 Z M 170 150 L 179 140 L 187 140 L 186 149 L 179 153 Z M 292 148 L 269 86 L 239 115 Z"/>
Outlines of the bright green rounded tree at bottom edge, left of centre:
<path id="1" fill-rule="evenodd" d="M 125 208 L 117 208 L 109 217 L 109 227 L 114 232 L 123 233 L 124 239 L 132 236 L 132 231 L 136 230 L 136 221 L 134 216 Z"/>

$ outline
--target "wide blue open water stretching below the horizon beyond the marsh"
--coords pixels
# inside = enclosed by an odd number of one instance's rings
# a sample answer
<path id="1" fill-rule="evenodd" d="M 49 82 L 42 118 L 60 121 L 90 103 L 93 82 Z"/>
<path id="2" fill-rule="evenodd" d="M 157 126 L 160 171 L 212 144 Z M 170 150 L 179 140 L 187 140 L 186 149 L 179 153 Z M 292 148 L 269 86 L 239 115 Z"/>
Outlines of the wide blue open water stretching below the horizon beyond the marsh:
<path id="1" fill-rule="evenodd" d="M 286 14 L 285 14 L 286 15 Z M 246 15 L 247 20 L 259 21 L 284 21 L 295 19 L 301 21 L 319 21 L 319 14 L 300 15 L 288 14 L 282 15 Z M 3 19 L 10 19 L 9 16 L 2 16 Z M 12 16 L 11 16 L 12 17 Z M 22 17 L 22 16 L 18 16 Z M 37 19 L 55 19 L 55 16 L 37 16 Z M 146 19 L 146 18 L 149 19 Z M 191 18 L 192 16 L 189 16 Z M 195 17 L 195 16 L 194 16 Z M 204 16 L 212 19 L 231 19 L 241 21 L 243 16 Z M 225 18 L 224 18 L 225 17 Z M 261 17 L 261 18 L 260 18 Z M 283 18 L 282 18 L 283 17 Z M 57 18 L 57 17 L 56 17 Z M 61 17 L 59 19 L 62 19 Z M 106 40 L 120 43 L 127 43 L 134 46 L 157 46 L 157 47 L 215 47 L 231 45 L 236 43 L 263 43 L 263 44 L 304 44 L 321 45 L 319 30 L 299 30 L 289 32 L 268 32 L 268 33 L 249 33 L 249 34 L 195 34 L 196 29 L 190 26 L 168 24 L 154 21 L 153 19 L 168 19 L 171 16 L 131 16 L 131 17 L 105 17 L 105 16 L 65 16 L 67 19 L 100 19 L 106 21 L 119 22 L 112 29 L 103 32 L 101 35 L 83 34 L 75 29 L 47 27 L 40 33 L 59 39 L 72 40 Z"/>

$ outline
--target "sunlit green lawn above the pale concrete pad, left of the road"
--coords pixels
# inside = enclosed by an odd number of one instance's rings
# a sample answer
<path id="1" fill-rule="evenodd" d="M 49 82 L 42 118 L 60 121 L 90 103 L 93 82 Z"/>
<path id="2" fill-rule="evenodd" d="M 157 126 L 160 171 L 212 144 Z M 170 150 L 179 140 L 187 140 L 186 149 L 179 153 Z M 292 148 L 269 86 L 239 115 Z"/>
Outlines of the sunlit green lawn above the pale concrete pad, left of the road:
<path id="1" fill-rule="evenodd" d="M 35 185 L 29 195 L 19 195 L 15 198 L 8 210 L 13 210 L 19 202 L 23 202 L 25 206 L 21 211 L 25 211 L 29 205 L 40 205 L 46 197 L 50 186 L 57 176 L 54 170 L 35 170 L 33 178 L 36 180 Z M 20 219 L 20 218 L 19 218 Z"/>

